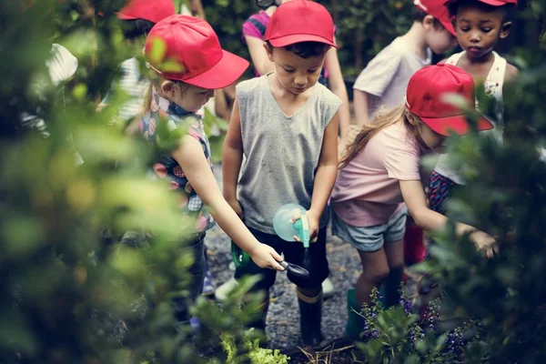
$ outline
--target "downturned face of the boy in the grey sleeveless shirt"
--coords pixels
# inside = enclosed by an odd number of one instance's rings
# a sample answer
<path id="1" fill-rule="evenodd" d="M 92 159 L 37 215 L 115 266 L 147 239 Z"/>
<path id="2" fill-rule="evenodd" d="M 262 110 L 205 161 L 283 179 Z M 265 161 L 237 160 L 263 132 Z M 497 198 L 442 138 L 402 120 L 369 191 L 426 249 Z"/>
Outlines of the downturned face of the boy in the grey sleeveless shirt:
<path id="1" fill-rule="evenodd" d="M 266 45 L 266 49 L 269 60 L 275 64 L 278 82 L 292 94 L 303 94 L 319 81 L 326 55 L 306 59 L 285 48 L 269 48 Z"/>

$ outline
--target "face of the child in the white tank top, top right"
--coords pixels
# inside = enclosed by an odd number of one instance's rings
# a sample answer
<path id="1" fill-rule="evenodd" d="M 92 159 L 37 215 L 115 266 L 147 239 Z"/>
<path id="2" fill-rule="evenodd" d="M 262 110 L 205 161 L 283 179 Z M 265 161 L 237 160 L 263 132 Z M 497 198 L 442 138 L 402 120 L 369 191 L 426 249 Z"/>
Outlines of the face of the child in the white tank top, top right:
<path id="1" fill-rule="evenodd" d="M 462 49 L 470 59 L 489 54 L 501 38 L 510 33 L 511 23 L 503 23 L 501 7 L 461 4 L 457 9 L 455 32 Z"/>

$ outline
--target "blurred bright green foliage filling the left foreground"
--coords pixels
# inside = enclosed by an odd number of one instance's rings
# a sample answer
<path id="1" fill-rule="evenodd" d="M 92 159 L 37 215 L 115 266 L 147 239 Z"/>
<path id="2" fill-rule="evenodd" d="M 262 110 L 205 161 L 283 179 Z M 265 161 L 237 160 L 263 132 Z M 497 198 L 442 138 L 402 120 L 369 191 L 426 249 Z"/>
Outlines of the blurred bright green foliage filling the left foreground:
<path id="1" fill-rule="evenodd" d="M 219 334 L 240 335 L 259 298 L 240 309 L 249 281 L 221 309 L 199 300 L 207 335 L 174 319 L 171 298 L 192 284 L 189 221 L 167 182 L 147 177 L 153 150 L 112 123 L 127 99 L 110 88 L 117 66 L 141 54 L 116 19 L 125 1 L 22 3 L 0 3 L 0 361 L 225 362 Z M 79 62 L 58 86 L 45 68 L 54 37 Z"/>

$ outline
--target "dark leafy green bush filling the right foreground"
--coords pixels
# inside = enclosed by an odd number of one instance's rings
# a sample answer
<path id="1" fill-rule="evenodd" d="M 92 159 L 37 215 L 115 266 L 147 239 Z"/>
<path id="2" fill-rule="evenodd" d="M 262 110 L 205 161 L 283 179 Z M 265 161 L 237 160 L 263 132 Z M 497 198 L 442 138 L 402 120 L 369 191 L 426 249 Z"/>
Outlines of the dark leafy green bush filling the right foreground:
<path id="1" fill-rule="evenodd" d="M 534 4 L 539 5 L 545 3 Z M 440 322 L 450 330 L 448 337 L 442 334 L 429 341 L 427 329 L 415 329 L 415 322 L 405 317 L 401 308 L 394 308 L 367 320 L 370 328 L 378 329 L 369 335 L 380 338 L 360 345 L 370 362 L 450 361 L 443 357 L 446 344 L 461 338 L 465 343 L 458 345 L 460 356 L 453 360 L 536 363 L 546 356 L 541 339 L 546 334 L 543 56 L 536 52 L 521 59 L 528 68 L 515 83 L 504 86 L 503 142 L 477 132 L 452 136 L 449 142 L 453 163 L 467 181 L 450 201 L 449 217 L 494 236 L 498 254 L 489 259 L 481 257 L 468 236 L 456 236 L 452 224 L 434 234 L 436 244 L 430 246 L 430 259 L 417 269 L 440 282 Z M 480 106 L 488 108 L 483 90 L 480 94 Z M 476 121 L 474 115 L 469 119 Z M 375 312 L 377 308 L 373 307 L 364 311 L 368 317 Z M 460 326 L 461 322 L 469 324 L 453 331 L 453 325 Z M 424 341 L 414 346 L 417 352 L 412 354 L 408 345 L 416 334 Z M 428 354 L 423 357 L 423 353 Z"/>

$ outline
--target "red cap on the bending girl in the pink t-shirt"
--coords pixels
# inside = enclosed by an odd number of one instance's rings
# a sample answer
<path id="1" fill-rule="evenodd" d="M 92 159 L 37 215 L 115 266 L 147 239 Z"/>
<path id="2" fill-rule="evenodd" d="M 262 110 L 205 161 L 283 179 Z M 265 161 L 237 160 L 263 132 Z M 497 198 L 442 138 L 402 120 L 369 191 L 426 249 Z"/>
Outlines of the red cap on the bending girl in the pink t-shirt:
<path id="1" fill-rule="evenodd" d="M 464 97 L 469 105 L 476 105 L 472 76 L 456 66 L 426 66 L 411 76 L 406 106 L 411 114 L 419 116 L 423 123 L 442 136 L 449 136 L 450 132 L 465 135 L 470 131 L 470 126 L 464 111 L 444 101 L 446 94 L 457 94 Z M 492 128 L 490 121 L 481 116 L 478 130 Z"/>

